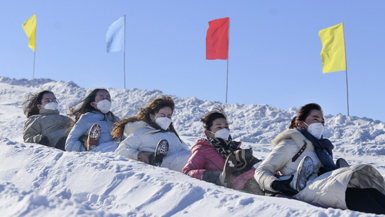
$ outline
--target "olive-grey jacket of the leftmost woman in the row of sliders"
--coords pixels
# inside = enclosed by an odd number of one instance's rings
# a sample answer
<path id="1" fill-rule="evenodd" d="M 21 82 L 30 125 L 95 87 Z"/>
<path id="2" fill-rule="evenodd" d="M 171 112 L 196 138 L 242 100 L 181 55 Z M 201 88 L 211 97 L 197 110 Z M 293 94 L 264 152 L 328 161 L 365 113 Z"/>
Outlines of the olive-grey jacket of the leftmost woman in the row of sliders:
<path id="1" fill-rule="evenodd" d="M 57 110 L 40 109 L 39 115 L 30 116 L 24 124 L 24 142 L 39 143 L 47 136 L 49 146 L 55 147 L 60 138 L 69 133 L 72 119 L 59 115 Z"/>

